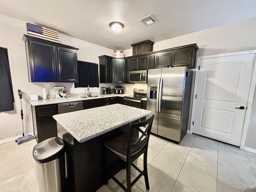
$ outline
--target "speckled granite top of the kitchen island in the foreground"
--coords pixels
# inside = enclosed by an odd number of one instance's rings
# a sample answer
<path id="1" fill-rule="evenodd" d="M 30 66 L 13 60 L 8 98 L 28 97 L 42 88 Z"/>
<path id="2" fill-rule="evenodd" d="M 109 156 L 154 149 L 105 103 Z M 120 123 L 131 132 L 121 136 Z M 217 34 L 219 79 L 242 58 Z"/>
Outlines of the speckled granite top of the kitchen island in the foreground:
<path id="1" fill-rule="evenodd" d="M 54 115 L 53 118 L 82 143 L 152 114 L 152 111 L 113 104 Z"/>

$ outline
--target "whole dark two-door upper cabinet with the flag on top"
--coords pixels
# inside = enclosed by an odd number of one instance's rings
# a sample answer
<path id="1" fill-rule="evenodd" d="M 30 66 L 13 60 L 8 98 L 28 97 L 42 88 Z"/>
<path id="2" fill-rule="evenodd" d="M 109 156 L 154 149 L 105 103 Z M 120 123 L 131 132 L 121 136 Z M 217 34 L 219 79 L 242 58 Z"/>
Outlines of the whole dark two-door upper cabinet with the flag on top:
<path id="1" fill-rule="evenodd" d="M 30 82 L 78 82 L 77 50 L 24 35 Z"/>

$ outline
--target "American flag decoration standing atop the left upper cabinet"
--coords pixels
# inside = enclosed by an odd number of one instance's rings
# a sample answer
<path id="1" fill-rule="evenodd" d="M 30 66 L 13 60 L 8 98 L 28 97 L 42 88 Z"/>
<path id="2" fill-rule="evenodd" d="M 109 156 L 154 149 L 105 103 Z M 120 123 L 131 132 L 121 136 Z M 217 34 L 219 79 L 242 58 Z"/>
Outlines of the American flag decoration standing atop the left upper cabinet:
<path id="1" fill-rule="evenodd" d="M 59 33 L 54 30 L 27 23 L 28 35 L 59 43 Z"/>

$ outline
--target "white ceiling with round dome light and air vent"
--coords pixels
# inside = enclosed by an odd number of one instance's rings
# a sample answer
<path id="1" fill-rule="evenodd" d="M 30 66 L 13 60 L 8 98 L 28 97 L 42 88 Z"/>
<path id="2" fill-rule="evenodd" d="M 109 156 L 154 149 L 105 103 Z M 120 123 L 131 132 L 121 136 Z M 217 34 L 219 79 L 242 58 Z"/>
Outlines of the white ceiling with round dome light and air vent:
<path id="1" fill-rule="evenodd" d="M 0 14 L 113 50 L 256 16 L 256 0 L 0 0 Z M 144 26 L 139 19 L 158 20 Z M 110 22 L 124 24 L 116 33 Z"/>

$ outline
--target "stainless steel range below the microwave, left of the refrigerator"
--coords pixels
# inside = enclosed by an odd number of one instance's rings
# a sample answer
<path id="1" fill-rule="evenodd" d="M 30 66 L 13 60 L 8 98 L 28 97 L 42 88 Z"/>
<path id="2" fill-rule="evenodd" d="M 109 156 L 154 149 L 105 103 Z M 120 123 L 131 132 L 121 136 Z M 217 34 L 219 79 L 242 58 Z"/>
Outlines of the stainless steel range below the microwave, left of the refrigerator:
<path id="1" fill-rule="evenodd" d="M 124 96 L 123 104 L 141 108 L 141 100 L 143 98 L 147 98 L 147 91 L 144 89 L 134 88 L 133 92 L 133 95 Z"/>

